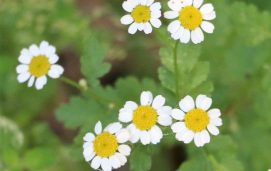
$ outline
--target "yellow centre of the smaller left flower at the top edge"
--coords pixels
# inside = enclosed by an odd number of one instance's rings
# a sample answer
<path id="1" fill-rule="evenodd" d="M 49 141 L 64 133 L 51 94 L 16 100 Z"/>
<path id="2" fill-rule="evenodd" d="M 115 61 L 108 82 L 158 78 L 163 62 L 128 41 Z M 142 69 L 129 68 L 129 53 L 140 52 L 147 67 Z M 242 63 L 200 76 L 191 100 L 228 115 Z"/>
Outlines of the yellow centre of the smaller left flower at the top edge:
<path id="1" fill-rule="evenodd" d="M 148 6 L 137 5 L 132 10 L 131 16 L 137 23 L 147 22 L 150 19 L 150 9 Z"/>

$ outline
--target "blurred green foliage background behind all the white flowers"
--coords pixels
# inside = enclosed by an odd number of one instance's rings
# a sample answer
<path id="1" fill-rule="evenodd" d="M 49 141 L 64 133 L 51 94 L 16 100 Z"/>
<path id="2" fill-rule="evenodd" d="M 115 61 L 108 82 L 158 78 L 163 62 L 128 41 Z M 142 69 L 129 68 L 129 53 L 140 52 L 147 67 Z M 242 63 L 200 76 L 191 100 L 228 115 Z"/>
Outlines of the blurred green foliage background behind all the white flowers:
<path id="1" fill-rule="evenodd" d="M 192 143 L 184 146 L 171 134 L 157 146 L 135 144 L 129 164 L 122 170 L 270 169 L 271 1 L 204 2 L 215 7 L 215 30 L 205 34 L 200 45 L 178 44 L 180 97 L 176 98 L 172 48 L 155 32 L 150 36 L 141 32 L 129 35 L 127 26 L 119 23 L 125 13 L 122 0 L 102 0 L 101 7 L 97 5 L 90 12 L 79 10 L 79 3 L 73 0 L 0 1 L 0 170 L 91 170 L 83 161 L 82 137 L 92 132 L 98 120 L 103 126 L 116 122 L 125 101 L 138 102 L 144 90 L 162 94 L 166 105 L 172 107 L 187 94 L 211 95 L 212 107 L 222 111 L 221 133 L 211 137 L 204 148 L 196 148 Z M 162 2 L 162 10 L 168 10 L 166 1 Z M 109 24 L 104 18 L 109 18 Z M 169 20 L 162 22 L 159 31 L 169 37 Z M 81 54 L 81 72 L 87 78 L 89 90 L 109 101 L 82 92 L 60 105 L 55 112 L 57 120 L 78 131 L 72 143 L 56 134 L 50 121 L 50 114 L 61 99 L 62 85 L 49 80 L 41 91 L 36 91 L 16 80 L 19 51 L 43 39 L 55 45 L 58 54 L 67 49 Z M 104 59 L 113 61 L 112 68 L 115 61 L 125 60 L 116 66 L 118 75 L 134 76 L 101 86 L 98 79 L 110 69 Z M 60 58 L 60 62 L 64 60 Z M 170 129 L 162 129 L 170 133 Z"/>

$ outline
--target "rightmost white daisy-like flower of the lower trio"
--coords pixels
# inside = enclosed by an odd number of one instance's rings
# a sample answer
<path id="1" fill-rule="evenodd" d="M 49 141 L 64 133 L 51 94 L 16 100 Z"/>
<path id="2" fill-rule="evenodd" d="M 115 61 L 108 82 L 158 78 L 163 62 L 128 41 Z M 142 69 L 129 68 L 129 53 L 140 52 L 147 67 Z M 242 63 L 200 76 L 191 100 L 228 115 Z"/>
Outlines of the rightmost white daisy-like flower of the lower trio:
<path id="1" fill-rule="evenodd" d="M 171 126 L 177 140 L 188 144 L 194 139 L 195 145 L 202 147 L 210 142 L 207 130 L 214 136 L 219 134 L 217 126 L 222 125 L 222 120 L 219 118 L 221 113 L 219 109 L 207 111 L 211 103 L 211 98 L 205 95 L 198 95 L 195 104 L 190 96 L 186 96 L 179 102 L 181 110 L 173 109 L 171 113 L 172 118 L 179 120 Z"/>

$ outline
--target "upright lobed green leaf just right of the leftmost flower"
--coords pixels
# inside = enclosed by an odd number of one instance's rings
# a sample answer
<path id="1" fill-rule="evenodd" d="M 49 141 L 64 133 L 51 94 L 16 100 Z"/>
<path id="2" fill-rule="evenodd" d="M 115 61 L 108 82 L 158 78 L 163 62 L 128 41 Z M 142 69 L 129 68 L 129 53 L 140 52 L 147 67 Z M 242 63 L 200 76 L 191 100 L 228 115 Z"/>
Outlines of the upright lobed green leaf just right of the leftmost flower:
<path id="1" fill-rule="evenodd" d="M 102 44 L 95 38 L 91 37 L 86 43 L 83 49 L 83 55 L 80 58 L 81 72 L 87 77 L 87 81 L 90 85 L 96 86 L 99 84 L 97 80 L 106 74 L 111 65 L 103 63 L 106 52 Z"/>

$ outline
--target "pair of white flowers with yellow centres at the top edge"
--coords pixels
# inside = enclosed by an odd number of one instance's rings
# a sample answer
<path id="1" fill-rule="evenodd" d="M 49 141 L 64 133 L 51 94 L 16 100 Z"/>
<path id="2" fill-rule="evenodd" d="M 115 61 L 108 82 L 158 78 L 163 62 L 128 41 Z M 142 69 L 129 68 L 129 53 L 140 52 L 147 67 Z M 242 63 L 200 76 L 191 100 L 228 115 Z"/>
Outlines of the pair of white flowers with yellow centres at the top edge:
<path id="1" fill-rule="evenodd" d="M 169 0 L 167 2 L 170 11 L 164 12 L 167 19 L 177 18 L 170 22 L 167 27 L 174 40 L 179 39 L 182 43 L 188 43 L 191 39 L 197 44 L 204 40 L 203 31 L 212 33 L 214 26 L 206 20 L 215 18 L 212 4 L 202 5 L 203 0 Z M 151 33 L 149 22 L 156 28 L 161 26 L 158 19 L 161 16 L 161 4 L 154 0 L 126 0 L 122 7 L 130 14 L 121 17 L 122 24 L 131 24 L 128 33 L 134 34 L 137 30 Z"/>

